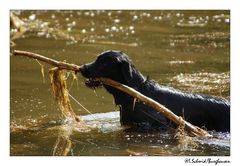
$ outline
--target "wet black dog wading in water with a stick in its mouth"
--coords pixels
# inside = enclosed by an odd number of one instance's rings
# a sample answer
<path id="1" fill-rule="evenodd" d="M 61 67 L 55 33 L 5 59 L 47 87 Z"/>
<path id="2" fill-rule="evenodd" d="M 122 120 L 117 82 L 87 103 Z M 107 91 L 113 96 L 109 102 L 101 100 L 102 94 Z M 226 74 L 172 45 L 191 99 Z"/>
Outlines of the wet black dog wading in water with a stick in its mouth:
<path id="1" fill-rule="evenodd" d="M 97 57 L 95 62 L 81 66 L 84 77 L 89 78 L 86 85 L 98 87 L 97 77 L 106 77 L 128 85 L 140 93 L 163 104 L 176 115 L 183 116 L 190 123 L 205 127 L 207 130 L 230 130 L 230 103 L 221 98 L 200 94 L 183 93 L 161 86 L 146 79 L 131 63 L 128 56 L 120 51 L 106 51 Z M 153 108 L 136 102 L 133 97 L 113 87 L 103 85 L 120 106 L 122 125 L 146 125 L 171 127 L 172 124 L 161 113 Z"/>

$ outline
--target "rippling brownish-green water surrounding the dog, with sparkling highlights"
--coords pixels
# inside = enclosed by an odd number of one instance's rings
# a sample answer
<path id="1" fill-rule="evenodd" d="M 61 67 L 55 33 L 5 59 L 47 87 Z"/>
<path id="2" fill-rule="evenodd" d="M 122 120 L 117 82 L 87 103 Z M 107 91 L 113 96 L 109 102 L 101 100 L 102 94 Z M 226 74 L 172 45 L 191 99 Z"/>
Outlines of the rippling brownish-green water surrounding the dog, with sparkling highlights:
<path id="1" fill-rule="evenodd" d="M 122 50 L 160 84 L 183 91 L 230 94 L 229 11 L 15 11 L 26 31 L 11 30 L 11 50 L 84 64 L 105 50 Z M 64 120 L 50 90 L 48 69 L 10 56 L 11 155 L 230 155 L 230 134 L 178 140 L 171 132 L 128 130 L 104 89 L 68 80 L 76 114 L 91 129 Z M 72 85 L 72 86 L 70 86 Z M 54 150 L 55 149 L 55 150 Z M 64 151 L 65 150 L 65 151 Z"/>

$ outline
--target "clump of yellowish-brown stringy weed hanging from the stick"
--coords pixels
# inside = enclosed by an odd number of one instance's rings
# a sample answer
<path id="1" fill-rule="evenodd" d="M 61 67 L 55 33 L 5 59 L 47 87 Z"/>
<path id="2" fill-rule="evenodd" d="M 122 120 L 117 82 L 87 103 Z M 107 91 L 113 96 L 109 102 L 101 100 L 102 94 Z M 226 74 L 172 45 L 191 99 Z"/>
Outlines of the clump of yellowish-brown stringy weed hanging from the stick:
<path id="1" fill-rule="evenodd" d="M 55 100 L 66 118 L 73 118 L 76 121 L 81 121 L 79 117 L 73 112 L 69 94 L 67 90 L 67 83 L 65 78 L 65 70 L 57 67 L 49 70 L 49 77 L 51 82 L 51 89 Z"/>

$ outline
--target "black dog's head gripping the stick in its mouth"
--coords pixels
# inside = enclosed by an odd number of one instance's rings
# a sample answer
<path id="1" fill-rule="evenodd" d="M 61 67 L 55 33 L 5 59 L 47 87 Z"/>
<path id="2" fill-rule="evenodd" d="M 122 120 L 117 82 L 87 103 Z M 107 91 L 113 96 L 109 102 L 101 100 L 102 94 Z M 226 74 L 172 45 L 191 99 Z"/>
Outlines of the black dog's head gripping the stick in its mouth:
<path id="1" fill-rule="evenodd" d="M 99 87 L 95 78 L 106 77 L 122 84 L 129 85 L 133 78 L 134 66 L 128 56 L 121 51 L 106 51 L 100 54 L 96 61 L 81 66 L 80 71 L 86 78 L 86 85 Z"/>

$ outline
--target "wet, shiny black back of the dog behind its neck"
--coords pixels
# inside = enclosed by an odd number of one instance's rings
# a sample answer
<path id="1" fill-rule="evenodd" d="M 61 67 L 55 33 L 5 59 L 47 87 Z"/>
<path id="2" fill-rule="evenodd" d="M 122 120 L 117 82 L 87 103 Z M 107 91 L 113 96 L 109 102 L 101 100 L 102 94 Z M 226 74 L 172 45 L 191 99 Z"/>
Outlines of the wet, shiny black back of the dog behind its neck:
<path id="1" fill-rule="evenodd" d="M 183 93 L 178 90 L 160 86 L 148 81 L 141 87 L 140 92 L 164 105 L 176 115 L 182 116 L 190 123 L 206 127 L 208 130 L 230 130 L 230 103 L 229 101 L 201 94 Z M 155 119 L 161 119 L 151 108 L 148 114 Z M 167 121 L 167 120 L 166 120 Z M 165 122 L 166 123 L 166 122 Z"/>

